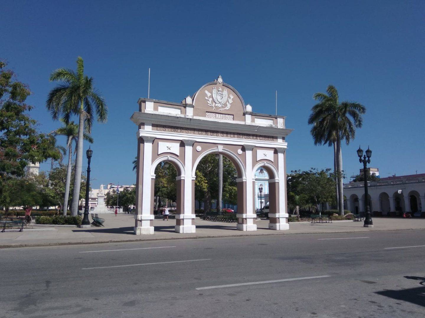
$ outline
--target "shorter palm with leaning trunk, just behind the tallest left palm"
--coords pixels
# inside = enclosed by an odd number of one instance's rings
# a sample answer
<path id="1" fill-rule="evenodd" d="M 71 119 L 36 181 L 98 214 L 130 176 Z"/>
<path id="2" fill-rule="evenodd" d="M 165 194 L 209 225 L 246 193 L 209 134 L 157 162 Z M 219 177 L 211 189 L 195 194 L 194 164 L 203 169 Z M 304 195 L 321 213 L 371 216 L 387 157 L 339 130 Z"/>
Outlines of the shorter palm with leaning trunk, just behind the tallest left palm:
<path id="1" fill-rule="evenodd" d="M 63 198 L 62 214 L 66 215 L 68 210 L 68 198 L 69 188 L 71 186 L 71 170 L 72 170 L 72 142 L 74 141 L 77 145 L 78 136 L 78 125 L 74 124 L 74 121 L 66 123 L 65 120 L 60 119 L 64 126 L 57 128 L 52 131 L 51 134 L 54 136 L 65 136 L 67 138 L 66 148 L 68 149 L 68 168 L 66 170 L 66 181 L 65 181 L 65 195 Z M 87 134 L 83 134 L 83 138 L 90 143 L 93 143 L 93 138 Z"/>

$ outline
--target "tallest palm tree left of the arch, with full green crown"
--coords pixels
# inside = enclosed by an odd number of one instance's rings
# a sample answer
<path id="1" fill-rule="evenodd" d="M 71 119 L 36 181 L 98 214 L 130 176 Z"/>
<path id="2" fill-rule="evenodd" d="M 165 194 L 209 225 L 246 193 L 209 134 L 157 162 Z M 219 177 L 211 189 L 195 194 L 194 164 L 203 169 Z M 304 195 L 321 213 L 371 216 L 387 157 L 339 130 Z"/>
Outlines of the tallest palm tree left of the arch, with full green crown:
<path id="1" fill-rule="evenodd" d="M 72 193 L 71 215 L 77 215 L 81 184 L 84 125 L 91 133 L 94 117 L 105 123 L 108 107 L 102 95 L 93 87 L 93 78 L 84 75 L 84 62 L 77 58 L 77 72 L 60 68 L 50 75 L 50 81 L 59 81 L 48 94 L 46 107 L 54 120 L 62 117 L 69 122 L 71 116 L 79 116 L 77 137 L 77 159 L 75 161 L 74 189 Z"/>

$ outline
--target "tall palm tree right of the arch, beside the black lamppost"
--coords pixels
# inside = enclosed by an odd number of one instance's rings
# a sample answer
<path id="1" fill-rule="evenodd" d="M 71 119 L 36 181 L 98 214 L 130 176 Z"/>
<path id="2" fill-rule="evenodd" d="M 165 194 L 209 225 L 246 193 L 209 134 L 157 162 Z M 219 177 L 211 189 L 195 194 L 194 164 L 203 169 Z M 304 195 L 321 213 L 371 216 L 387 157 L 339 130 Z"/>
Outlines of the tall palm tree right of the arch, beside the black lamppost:
<path id="1" fill-rule="evenodd" d="M 315 145 L 335 143 L 334 163 L 337 167 L 338 186 L 338 209 L 340 215 L 344 215 L 344 193 L 343 193 L 343 160 L 341 152 L 341 140 L 348 145 L 356 136 L 356 128 L 363 125 L 362 114 L 366 107 L 362 104 L 349 101 L 339 101 L 338 91 L 333 85 L 329 85 L 325 93 L 315 93 L 314 100 L 319 103 L 312 107 L 309 116 L 309 125 L 313 125 L 310 132 Z"/>

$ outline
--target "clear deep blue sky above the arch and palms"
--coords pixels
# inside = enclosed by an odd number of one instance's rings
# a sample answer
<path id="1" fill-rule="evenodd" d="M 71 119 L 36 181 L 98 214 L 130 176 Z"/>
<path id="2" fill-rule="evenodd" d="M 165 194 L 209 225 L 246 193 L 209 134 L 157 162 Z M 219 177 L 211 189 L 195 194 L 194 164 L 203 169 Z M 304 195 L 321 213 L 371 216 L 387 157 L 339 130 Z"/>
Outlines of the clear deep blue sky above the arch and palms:
<path id="1" fill-rule="evenodd" d="M 49 74 L 83 57 L 109 106 L 108 123 L 93 128 L 94 187 L 135 182 L 129 118 L 147 95 L 148 67 L 161 100 L 179 102 L 221 74 L 254 112 L 273 114 L 277 89 L 278 114 L 295 128 L 288 171 L 333 166 L 307 117 L 313 93 L 334 84 L 368 109 L 343 146 L 344 170 L 357 174 L 356 149 L 370 145 L 386 177 L 425 172 L 424 14 L 424 1 L 3 1 L 0 56 L 31 87 L 41 131 L 59 126 L 45 110 Z"/>

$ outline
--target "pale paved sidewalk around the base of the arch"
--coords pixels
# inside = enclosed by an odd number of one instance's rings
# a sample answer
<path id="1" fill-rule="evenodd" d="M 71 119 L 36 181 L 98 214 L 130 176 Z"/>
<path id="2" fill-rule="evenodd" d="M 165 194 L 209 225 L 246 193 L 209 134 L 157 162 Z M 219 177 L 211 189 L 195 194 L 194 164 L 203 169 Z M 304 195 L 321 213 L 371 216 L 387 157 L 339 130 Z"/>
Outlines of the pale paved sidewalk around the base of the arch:
<path id="1" fill-rule="evenodd" d="M 425 219 L 374 218 L 374 228 L 364 228 L 363 222 L 334 221 L 334 223 L 289 223 L 289 230 L 273 231 L 268 229 L 268 220 L 256 221 L 257 231 L 243 232 L 236 230 L 236 223 L 210 222 L 196 218 L 196 233 L 176 233 L 176 220 L 154 220 L 155 234 L 134 235 L 134 216 L 121 214 L 102 215 L 105 227 L 92 226 L 90 229 L 63 226 L 33 226 L 33 229 L 6 230 L 0 233 L 0 248 L 48 246 L 66 244 L 90 244 L 125 241 L 171 240 L 183 238 L 237 237 L 248 235 L 288 235 L 288 234 L 318 234 L 343 232 L 375 232 L 396 231 L 408 229 L 425 229 Z"/>

